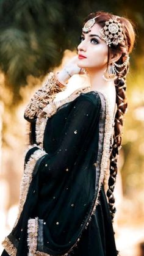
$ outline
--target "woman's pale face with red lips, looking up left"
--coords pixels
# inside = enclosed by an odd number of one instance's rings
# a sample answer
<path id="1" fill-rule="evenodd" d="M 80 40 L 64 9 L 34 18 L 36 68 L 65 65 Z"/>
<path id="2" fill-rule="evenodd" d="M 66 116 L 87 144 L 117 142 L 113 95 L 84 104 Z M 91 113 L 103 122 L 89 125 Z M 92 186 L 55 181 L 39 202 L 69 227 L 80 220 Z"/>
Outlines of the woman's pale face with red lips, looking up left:
<path id="1" fill-rule="evenodd" d="M 108 46 L 100 38 L 101 27 L 95 24 L 87 34 L 82 32 L 81 43 L 78 45 L 78 62 L 80 68 L 98 71 L 106 68 Z"/>

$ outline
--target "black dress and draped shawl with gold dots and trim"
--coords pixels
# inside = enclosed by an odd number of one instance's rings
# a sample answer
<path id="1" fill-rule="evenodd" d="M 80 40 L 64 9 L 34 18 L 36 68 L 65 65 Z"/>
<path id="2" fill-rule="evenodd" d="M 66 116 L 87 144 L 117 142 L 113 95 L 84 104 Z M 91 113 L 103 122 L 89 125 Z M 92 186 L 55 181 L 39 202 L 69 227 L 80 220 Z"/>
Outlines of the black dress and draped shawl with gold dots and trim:
<path id="1" fill-rule="evenodd" d="M 33 130 L 20 214 L 2 256 L 117 255 L 103 185 L 112 139 L 106 115 L 102 93 L 80 93 L 46 119 L 43 147 Z"/>

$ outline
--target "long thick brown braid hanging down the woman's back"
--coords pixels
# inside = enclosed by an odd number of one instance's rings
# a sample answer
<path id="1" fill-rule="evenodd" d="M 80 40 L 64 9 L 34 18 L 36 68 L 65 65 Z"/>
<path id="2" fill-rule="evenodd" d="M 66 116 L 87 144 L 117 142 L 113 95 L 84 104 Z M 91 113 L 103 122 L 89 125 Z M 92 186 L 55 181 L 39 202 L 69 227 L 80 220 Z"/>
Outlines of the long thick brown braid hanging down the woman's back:
<path id="1" fill-rule="evenodd" d="M 125 74 L 129 69 L 129 65 L 126 68 Z M 117 156 L 119 149 L 121 147 L 121 133 L 123 128 L 123 115 L 126 112 L 128 106 L 126 99 L 126 83 L 124 78 L 115 79 L 115 89 L 117 93 L 116 103 L 117 103 L 117 112 L 115 114 L 115 126 L 114 126 L 114 135 L 113 135 L 113 145 L 112 152 L 110 155 L 110 177 L 108 181 L 109 189 L 107 190 L 107 197 L 109 200 L 109 209 L 111 218 L 113 221 L 116 208 L 115 208 L 115 198 L 113 196 L 113 191 L 115 188 L 115 181 L 117 177 Z"/>

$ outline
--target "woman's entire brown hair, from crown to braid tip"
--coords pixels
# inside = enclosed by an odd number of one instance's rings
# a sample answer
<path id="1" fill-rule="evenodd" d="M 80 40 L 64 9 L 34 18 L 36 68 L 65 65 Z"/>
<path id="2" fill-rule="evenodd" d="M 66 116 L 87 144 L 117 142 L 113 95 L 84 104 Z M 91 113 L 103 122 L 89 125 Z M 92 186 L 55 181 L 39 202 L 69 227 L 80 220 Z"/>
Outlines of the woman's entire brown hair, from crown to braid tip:
<path id="1" fill-rule="evenodd" d="M 108 49 L 108 61 L 107 64 L 109 64 L 109 55 L 110 53 L 121 53 L 120 59 L 116 62 L 117 64 L 123 64 L 126 60 L 129 53 L 131 53 L 132 48 L 134 46 L 135 41 L 135 32 L 134 32 L 134 25 L 131 21 L 128 20 L 128 18 L 123 18 L 120 16 L 113 15 L 111 13 L 107 12 L 96 12 L 96 13 L 90 13 L 90 15 L 87 16 L 84 23 L 91 18 L 94 18 L 98 16 L 95 21 L 96 24 L 99 24 L 99 26 L 104 27 L 106 21 L 109 19 L 117 18 L 118 21 L 123 26 L 123 35 L 124 40 L 123 42 L 119 43 L 117 46 L 111 45 Z M 118 75 L 117 79 L 115 79 L 115 89 L 117 93 L 116 97 L 116 103 L 117 103 L 117 112 L 115 114 L 115 126 L 114 126 L 114 134 L 113 134 L 113 145 L 112 145 L 112 152 L 110 155 L 110 175 L 109 175 L 109 189 L 107 190 L 107 197 L 109 200 L 109 209 L 110 214 L 112 217 L 115 215 L 115 198 L 113 196 L 113 190 L 115 188 L 115 181 L 117 176 L 117 156 L 119 149 L 121 147 L 121 133 L 123 128 L 123 115 L 126 112 L 126 108 L 128 107 L 127 98 L 126 98 L 126 74 L 129 70 L 129 62 L 126 65 L 126 68 L 123 70 L 123 67 L 118 67 Z"/>

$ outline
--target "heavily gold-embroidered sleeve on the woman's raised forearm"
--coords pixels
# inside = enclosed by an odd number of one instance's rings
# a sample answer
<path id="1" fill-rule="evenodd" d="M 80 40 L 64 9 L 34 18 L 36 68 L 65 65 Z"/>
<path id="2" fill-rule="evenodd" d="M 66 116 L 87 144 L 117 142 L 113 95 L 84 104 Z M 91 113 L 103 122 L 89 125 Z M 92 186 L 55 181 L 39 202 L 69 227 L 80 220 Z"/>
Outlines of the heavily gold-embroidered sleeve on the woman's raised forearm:
<path id="1" fill-rule="evenodd" d="M 24 117 L 27 119 L 34 119 L 38 114 L 50 103 L 55 97 L 57 92 L 62 92 L 65 86 L 60 87 L 57 84 L 57 79 L 54 73 L 50 72 L 46 76 L 42 87 L 34 93 L 31 101 L 24 111 Z"/>

